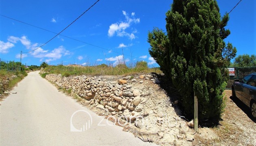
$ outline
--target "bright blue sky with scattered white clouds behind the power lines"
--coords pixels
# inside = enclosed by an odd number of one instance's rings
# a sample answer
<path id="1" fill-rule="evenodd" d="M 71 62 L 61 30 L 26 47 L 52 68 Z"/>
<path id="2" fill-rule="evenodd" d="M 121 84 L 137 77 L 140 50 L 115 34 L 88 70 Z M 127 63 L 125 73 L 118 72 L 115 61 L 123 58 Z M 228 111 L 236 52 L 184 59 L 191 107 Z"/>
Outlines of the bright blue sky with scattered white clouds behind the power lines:
<path id="1" fill-rule="evenodd" d="M 1 0 L 0 14 L 59 33 L 96 0 Z M 223 16 L 239 0 L 217 0 Z M 165 30 L 165 13 L 172 0 L 100 0 L 80 19 L 35 52 L 23 53 L 22 63 L 127 64 L 145 60 L 157 67 L 148 53 L 148 31 Z M 242 0 L 230 13 L 230 36 L 225 40 L 237 55 L 256 54 L 256 2 Z M 56 34 L 0 16 L 0 58 L 20 61 L 20 52 L 43 45 Z M 65 36 L 71 37 L 69 39 Z M 79 40 L 79 41 L 75 41 Z M 82 42 L 85 43 L 82 43 Z M 89 45 L 89 44 L 91 45 Z M 95 47 L 98 46 L 98 47 Z M 123 56 L 124 54 L 124 56 Z"/>

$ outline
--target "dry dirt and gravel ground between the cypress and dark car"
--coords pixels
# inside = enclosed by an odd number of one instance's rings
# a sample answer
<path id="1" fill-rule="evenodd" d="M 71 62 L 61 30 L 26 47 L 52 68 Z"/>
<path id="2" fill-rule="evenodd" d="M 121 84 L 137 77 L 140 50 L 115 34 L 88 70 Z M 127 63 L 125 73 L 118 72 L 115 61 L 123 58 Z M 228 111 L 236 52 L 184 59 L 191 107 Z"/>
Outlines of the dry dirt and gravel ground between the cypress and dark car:
<path id="1" fill-rule="evenodd" d="M 225 90 L 226 109 L 222 121 L 215 128 L 201 128 L 195 135 L 195 146 L 255 146 L 256 122 L 249 116 L 249 108 Z"/>

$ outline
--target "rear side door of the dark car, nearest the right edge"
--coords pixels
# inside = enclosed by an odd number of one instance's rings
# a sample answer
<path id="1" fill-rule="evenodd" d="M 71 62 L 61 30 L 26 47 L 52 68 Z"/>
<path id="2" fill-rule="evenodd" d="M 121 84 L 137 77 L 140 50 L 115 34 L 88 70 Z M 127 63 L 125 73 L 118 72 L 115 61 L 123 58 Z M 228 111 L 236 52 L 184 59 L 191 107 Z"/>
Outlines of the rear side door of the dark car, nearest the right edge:
<path id="1" fill-rule="evenodd" d="M 247 82 L 246 85 L 244 85 L 243 88 L 243 102 L 250 106 L 250 100 L 253 95 L 253 93 L 256 91 L 256 75 L 253 75 L 251 79 Z"/>

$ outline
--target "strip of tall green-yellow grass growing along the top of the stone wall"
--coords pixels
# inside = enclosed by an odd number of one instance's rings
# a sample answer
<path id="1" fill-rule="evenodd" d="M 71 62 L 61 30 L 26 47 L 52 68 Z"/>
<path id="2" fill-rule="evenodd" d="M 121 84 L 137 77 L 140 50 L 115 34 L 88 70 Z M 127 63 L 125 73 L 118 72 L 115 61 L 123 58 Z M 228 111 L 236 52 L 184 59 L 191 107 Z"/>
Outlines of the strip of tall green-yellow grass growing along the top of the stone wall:
<path id="1" fill-rule="evenodd" d="M 72 67 L 72 66 L 49 66 L 44 69 L 47 73 L 61 74 L 65 77 L 70 75 L 132 75 L 136 73 L 162 73 L 159 68 L 134 67 L 129 68 L 124 64 L 116 67 L 107 65 L 88 66 L 88 67 Z"/>

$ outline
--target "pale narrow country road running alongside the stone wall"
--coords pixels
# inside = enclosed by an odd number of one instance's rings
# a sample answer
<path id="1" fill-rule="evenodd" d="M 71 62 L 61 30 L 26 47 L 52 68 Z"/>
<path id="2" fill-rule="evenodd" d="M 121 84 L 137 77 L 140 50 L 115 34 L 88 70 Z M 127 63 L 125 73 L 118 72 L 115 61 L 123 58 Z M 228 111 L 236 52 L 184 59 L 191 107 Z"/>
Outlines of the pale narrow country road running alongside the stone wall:
<path id="1" fill-rule="evenodd" d="M 17 94 L 0 102 L 0 146 L 154 145 L 76 103 L 41 78 L 39 71 L 28 73 L 13 91 Z M 82 111 L 74 114 L 78 110 Z M 72 114 L 72 125 L 82 132 L 71 131 Z M 86 130 L 89 115 L 92 125 Z"/>

